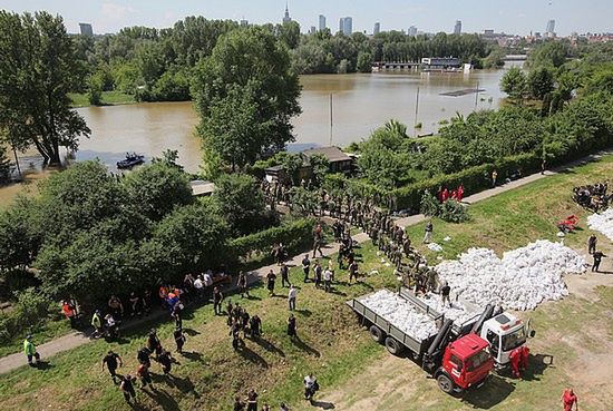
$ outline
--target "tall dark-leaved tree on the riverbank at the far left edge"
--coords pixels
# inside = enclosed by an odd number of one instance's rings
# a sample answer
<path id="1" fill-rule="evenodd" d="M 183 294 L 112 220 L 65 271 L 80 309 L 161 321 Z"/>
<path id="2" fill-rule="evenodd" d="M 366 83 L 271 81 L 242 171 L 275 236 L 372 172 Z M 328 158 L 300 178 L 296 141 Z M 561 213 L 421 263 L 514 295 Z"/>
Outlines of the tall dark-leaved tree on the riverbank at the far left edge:
<path id="1" fill-rule="evenodd" d="M 89 136 L 67 94 L 82 78 L 61 17 L 0 11 L 0 125 L 18 149 L 35 146 L 45 160 L 60 163 L 60 147 L 78 148 Z"/>

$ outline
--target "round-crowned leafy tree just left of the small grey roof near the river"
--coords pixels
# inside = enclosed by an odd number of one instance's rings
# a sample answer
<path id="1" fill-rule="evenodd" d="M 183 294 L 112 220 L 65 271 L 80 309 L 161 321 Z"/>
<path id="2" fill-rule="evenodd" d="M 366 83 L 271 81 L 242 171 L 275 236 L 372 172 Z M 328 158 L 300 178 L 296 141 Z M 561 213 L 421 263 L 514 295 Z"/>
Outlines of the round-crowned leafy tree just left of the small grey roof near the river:
<path id="1" fill-rule="evenodd" d="M 132 207 L 154 222 L 194 200 L 187 175 L 166 162 L 139 167 L 123 184 Z"/>

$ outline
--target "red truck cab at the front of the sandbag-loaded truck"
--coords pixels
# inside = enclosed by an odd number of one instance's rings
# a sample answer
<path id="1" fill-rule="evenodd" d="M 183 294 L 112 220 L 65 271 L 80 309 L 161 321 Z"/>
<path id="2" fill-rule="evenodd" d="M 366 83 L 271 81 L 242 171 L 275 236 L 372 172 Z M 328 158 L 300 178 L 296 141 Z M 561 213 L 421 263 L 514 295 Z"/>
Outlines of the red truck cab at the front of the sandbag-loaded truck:
<path id="1" fill-rule="evenodd" d="M 451 393 L 483 384 L 494 369 L 488 349 L 489 343 L 477 334 L 467 334 L 449 343 L 435 374 L 438 386 Z"/>

